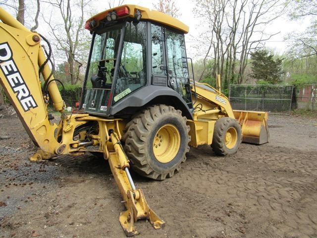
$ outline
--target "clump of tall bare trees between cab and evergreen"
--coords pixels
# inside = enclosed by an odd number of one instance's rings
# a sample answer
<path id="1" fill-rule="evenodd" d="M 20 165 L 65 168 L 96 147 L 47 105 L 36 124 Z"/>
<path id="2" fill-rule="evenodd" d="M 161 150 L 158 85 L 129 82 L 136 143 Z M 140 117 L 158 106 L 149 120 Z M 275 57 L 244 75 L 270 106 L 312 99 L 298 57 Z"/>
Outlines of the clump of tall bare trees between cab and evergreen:
<path id="1" fill-rule="evenodd" d="M 250 52 L 278 34 L 265 34 L 264 29 L 284 13 L 284 1 L 195 0 L 195 4 L 194 11 L 200 12 L 201 25 L 207 28 L 199 44 L 202 49 L 207 43 L 204 61 L 213 60 L 212 77 L 220 74 L 224 86 L 242 83 Z"/>

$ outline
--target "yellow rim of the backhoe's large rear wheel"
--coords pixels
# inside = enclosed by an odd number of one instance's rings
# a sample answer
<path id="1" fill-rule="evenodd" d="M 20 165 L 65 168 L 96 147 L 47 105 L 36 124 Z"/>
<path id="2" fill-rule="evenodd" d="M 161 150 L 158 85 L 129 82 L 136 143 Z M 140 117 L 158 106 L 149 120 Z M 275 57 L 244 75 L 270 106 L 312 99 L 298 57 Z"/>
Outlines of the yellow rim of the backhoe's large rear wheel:
<path id="1" fill-rule="evenodd" d="M 180 147 L 180 134 L 172 124 L 165 124 L 159 128 L 153 140 L 153 153 L 161 163 L 168 163 L 174 159 Z"/>

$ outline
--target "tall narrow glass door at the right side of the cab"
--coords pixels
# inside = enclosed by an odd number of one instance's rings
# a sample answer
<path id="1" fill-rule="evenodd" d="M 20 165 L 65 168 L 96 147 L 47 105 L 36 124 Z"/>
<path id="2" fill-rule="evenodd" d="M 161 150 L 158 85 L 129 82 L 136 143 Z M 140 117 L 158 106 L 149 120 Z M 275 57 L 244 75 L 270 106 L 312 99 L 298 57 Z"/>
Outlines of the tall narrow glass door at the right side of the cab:
<path id="1" fill-rule="evenodd" d="M 193 108 L 184 34 L 164 29 L 168 86 Z"/>

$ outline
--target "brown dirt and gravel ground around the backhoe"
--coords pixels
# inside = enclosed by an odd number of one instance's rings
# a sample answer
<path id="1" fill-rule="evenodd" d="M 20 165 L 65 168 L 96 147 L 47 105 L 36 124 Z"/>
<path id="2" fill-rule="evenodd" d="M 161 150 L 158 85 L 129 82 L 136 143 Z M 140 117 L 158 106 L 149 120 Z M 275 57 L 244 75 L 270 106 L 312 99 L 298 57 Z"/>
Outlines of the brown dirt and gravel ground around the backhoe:
<path id="1" fill-rule="evenodd" d="M 317 238 L 317 119 L 269 116 L 270 143 L 230 157 L 191 148 L 171 179 L 132 174 L 162 230 L 142 238 Z M 9 138 L 8 138 L 9 137 Z M 0 119 L 0 237 L 124 238 L 121 198 L 106 161 L 43 163 L 19 119 Z"/>

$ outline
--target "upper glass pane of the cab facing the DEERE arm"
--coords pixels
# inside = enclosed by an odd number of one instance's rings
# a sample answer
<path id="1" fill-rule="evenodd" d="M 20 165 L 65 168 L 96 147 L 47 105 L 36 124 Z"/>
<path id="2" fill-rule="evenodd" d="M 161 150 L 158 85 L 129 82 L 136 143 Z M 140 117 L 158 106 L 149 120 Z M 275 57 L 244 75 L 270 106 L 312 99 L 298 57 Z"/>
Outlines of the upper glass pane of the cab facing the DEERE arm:
<path id="1" fill-rule="evenodd" d="M 96 34 L 86 88 L 111 88 L 121 29 L 122 25 L 116 25 Z"/>

